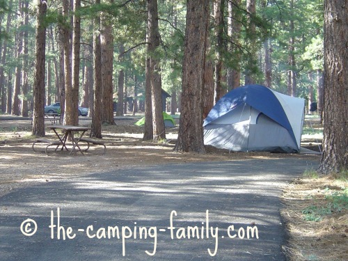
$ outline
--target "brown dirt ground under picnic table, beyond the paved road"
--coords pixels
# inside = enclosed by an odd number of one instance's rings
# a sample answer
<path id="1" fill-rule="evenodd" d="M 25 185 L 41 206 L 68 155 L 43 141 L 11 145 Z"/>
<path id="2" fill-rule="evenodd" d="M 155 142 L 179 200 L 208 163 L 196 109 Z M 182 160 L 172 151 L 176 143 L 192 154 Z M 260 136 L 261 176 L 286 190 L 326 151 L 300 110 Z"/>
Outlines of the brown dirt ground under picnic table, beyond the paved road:
<path id="1" fill-rule="evenodd" d="M 192 161 L 224 161 L 234 159 L 274 157 L 316 157 L 313 155 L 285 155 L 268 152 L 228 152 L 207 147 L 206 154 L 173 152 L 177 128 L 166 129 L 166 143 L 142 141 L 143 127 L 134 125 L 137 118 L 117 118 L 116 125 L 102 126 L 106 154 L 101 146 L 93 146 L 85 155 L 67 152 L 33 152 L 31 146 L 31 120 L 0 116 L 0 196 L 31 182 L 49 182 L 90 173 L 112 171 L 133 166 L 157 164 L 182 164 Z M 90 126 L 90 118 L 80 117 L 79 124 Z M 52 130 L 46 129 L 47 139 L 56 139 Z"/>

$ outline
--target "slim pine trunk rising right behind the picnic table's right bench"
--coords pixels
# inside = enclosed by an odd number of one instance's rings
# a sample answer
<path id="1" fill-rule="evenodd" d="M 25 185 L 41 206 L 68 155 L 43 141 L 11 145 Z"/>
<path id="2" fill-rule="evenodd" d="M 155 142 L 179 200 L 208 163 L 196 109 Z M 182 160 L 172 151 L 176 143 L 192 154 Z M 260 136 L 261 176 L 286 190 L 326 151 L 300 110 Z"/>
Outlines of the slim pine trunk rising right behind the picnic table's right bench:
<path id="1" fill-rule="evenodd" d="M 99 4 L 100 0 L 95 0 Z M 94 19 L 93 34 L 94 104 L 90 136 L 102 138 L 102 57 L 100 46 L 100 16 Z"/>

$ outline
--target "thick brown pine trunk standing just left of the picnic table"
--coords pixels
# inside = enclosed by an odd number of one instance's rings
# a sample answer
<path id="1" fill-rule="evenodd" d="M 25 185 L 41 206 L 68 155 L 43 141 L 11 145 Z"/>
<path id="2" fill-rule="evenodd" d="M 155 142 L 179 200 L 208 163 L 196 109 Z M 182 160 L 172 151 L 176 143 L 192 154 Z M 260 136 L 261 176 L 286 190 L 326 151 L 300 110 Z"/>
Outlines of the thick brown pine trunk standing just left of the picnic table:
<path id="1" fill-rule="evenodd" d="M 45 136 L 45 46 L 46 27 L 44 17 L 47 13 L 47 1 L 38 1 L 38 18 L 36 19 L 36 54 L 35 54 L 35 76 L 34 76 L 34 111 L 33 129 L 35 136 Z"/>

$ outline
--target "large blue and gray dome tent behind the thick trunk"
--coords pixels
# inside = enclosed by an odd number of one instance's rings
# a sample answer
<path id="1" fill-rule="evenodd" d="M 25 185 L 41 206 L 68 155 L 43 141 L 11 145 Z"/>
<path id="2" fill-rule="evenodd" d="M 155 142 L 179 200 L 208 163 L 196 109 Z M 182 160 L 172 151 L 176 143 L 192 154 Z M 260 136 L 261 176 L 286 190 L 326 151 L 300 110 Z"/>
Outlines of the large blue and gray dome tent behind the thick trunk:
<path id="1" fill-rule="evenodd" d="M 299 152 L 305 100 L 260 85 L 231 90 L 204 121 L 204 143 L 232 151 Z"/>

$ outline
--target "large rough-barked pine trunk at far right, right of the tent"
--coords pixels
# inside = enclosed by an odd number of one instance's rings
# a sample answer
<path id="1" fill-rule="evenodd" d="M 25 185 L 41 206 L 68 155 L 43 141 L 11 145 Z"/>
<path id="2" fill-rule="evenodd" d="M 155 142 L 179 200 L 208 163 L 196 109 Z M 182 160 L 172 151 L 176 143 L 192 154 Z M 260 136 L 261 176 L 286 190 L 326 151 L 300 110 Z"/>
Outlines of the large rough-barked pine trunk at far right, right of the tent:
<path id="1" fill-rule="evenodd" d="M 324 139 L 319 171 L 348 170 L 348 5 L 324 1 Z"/>

